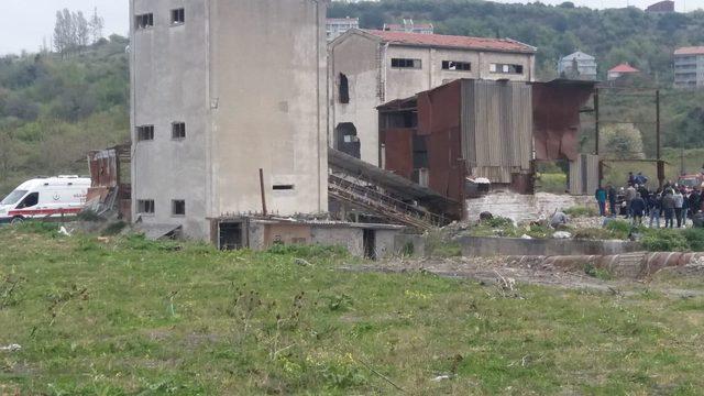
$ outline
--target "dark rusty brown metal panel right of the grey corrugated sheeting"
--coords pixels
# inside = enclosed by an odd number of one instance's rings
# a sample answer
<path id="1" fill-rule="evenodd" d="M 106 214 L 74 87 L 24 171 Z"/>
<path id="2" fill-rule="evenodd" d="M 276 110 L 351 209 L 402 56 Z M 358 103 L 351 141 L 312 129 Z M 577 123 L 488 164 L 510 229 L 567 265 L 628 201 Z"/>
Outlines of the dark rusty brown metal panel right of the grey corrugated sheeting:
<path id="1" fill-rule="evenodd" d="M 592 97 L 594 82 L 536 82 L 532 91 L 536 160 L 578 161 L 580 110 Z"/>

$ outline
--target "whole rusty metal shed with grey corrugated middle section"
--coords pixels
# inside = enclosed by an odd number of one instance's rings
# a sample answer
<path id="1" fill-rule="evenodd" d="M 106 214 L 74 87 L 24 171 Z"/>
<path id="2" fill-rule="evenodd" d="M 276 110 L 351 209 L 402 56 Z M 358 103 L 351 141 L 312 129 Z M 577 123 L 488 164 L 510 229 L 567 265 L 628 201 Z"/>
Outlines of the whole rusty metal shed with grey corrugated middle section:
<path id="1" fill-rule="evenodd" d="M 579 153 L 580 112 L 595 82 L 460 79 L 378 107 L 383 167 L 455 201 L 468 179 L 534 193 L 534 161 L 569 161 L 573 194 L 598 183 Z"/>

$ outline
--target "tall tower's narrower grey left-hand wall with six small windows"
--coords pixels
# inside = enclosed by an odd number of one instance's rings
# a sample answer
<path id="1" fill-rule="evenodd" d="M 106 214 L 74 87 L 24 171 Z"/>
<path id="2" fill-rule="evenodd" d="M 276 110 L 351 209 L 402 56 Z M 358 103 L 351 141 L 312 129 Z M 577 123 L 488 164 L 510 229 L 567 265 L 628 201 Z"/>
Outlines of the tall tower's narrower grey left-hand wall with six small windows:
<path id="1" fill-rule="evenodd" d="M 206 0 L 131 0 L 132 218 L 139 199 L 154 199 L 144 223 L 183 224 L 207 238 L 208 53 Z M 185 8 L 186 23 L 170 24 Z M 134 15 L 154 14 L 154 26 L 134 30 Z M 186 139 L 172 139 L 172 123 L 186 123 Z M 138 142 L 138 125 L 154 125 L 154 140 Z M 172 216 L 172 200 L 186 200 L 186 217 Z"/>

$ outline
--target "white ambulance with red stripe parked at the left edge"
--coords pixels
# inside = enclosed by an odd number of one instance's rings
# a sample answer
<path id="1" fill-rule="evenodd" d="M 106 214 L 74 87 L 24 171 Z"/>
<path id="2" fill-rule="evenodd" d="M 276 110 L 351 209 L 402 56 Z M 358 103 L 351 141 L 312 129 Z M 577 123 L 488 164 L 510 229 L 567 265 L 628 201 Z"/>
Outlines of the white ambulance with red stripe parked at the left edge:
<path id="1" fill-rule="evenodd" d="M 75 216 L 86 205 L 90 178 L 57 176 L 24 182 L 0 201 L 0 224 Z"/>

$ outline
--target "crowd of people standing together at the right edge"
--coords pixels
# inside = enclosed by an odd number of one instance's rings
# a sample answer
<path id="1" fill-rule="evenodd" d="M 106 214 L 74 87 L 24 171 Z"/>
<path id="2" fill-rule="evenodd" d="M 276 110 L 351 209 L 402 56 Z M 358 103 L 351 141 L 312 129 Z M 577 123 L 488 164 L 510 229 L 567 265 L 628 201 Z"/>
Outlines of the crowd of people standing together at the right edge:
<path id="1" fill-rule="evenodd" d="M 668 182 L 662 188 L 649 189 L 648 178 L 641 173 L 628 174 L 625 187 L 618 190 L 609 183 L 600 186 L 595 193 L 602 217 L 617 217 L 623 215 L 631 219 L 634 224 L 648 227 L 683 228 L 688 220 L 702 216 L 704 210 L 704 195 L 698 187 L 688 188 Z"/>

